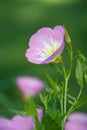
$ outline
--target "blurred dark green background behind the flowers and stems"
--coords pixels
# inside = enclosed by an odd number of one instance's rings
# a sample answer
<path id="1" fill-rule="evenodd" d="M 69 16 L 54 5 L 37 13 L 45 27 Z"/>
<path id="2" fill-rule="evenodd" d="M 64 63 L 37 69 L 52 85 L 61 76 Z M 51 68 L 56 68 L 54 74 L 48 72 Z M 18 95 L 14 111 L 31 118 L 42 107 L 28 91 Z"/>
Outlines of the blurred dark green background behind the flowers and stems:
<path id="1" fill-rule="evenodd" d="M 49 65 L 34 65 L 25 57 L 30 36 L 42 27 L 64 25 L 72 38 L 73 49 L 87 56 L 87 3 L 85 0 L 0 0 L 0 115 L 11 116 L 9 108 L 22 108 L 15 78 L 37 76 L 46 81 L 59 75 Z M 67 60 L 67 57 L 65 56 Z M 73 73 L 74 76 L 74 73 Z M 72 76 L 72 77 L 73 77 Z M 76 95 L 74 79 L 71 93 Z M 86 88 L 83 95 L 87 95 Z M 79 111 L 87 112 L 87 105 Z"/>

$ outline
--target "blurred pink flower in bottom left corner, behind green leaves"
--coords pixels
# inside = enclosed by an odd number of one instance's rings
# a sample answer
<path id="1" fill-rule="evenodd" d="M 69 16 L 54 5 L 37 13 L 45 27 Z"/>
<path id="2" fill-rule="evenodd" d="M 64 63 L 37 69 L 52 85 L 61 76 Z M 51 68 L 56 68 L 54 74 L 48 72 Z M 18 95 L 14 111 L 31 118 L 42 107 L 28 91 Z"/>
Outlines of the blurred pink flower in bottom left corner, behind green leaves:
<path id="1" fill-rule="evenodd" d="M 41 122 L 43 110 L 37 108 L 38 119 Z M 16 115 L 12 120 L 0 118 L 0 130 L 34 130 L 35 123 L 33 117 Z"/>

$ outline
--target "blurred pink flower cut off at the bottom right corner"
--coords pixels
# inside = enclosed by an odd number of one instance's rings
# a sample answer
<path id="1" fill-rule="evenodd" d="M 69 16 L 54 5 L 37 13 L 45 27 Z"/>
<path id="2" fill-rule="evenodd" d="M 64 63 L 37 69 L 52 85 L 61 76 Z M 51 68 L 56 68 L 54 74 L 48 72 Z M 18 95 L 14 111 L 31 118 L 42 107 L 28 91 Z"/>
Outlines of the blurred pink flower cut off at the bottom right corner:
<path id="1" fill-rule="evenodd" d="M 65 130 L 87 130 L 87 114 L 72 113 L 65 124 Z"/>

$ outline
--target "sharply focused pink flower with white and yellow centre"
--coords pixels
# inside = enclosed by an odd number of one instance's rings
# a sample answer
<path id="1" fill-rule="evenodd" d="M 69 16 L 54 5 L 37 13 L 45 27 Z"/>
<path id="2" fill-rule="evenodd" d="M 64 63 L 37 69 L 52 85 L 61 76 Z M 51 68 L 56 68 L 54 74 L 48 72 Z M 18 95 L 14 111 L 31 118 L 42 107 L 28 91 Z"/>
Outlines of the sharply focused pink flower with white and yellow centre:
<path id="1" fill-rule="evenodd" d="M 55 26 L 53 29 L 44 27 L 30 38 L 26 57 L 28 61 L 35 64 L 48 64 L 62 53 L 64 46 L 62 26 Z"/>

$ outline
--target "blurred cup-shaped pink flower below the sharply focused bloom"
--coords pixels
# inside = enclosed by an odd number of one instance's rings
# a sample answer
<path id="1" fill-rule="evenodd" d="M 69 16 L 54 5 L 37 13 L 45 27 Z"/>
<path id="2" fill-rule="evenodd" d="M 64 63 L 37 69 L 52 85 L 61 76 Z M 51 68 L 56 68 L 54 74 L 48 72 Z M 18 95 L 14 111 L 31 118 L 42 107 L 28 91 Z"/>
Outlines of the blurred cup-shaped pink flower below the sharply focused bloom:
<path id="1" fill-rule="evenodd" d="M 25 96 L 35 96 L 44 88 L 41 80 L 34 77 L 22 76 L 16 79 L 18 88 Z"/>

